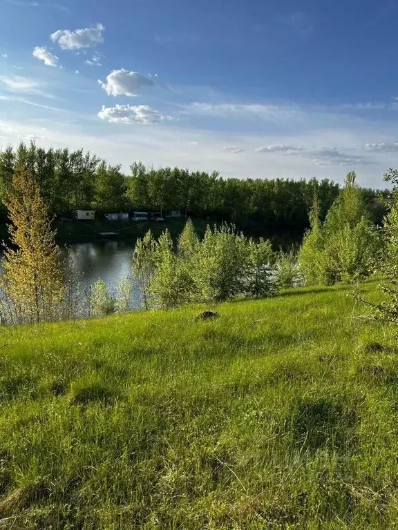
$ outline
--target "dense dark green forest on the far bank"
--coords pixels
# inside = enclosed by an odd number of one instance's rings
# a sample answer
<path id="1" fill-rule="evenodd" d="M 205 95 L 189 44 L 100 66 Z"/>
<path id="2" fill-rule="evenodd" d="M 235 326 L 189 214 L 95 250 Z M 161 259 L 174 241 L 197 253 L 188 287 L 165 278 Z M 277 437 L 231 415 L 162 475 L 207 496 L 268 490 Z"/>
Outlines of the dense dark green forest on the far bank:
<path id="1" fill-rule="evenodd" d="M 233 222 L 240 228 L 263 233 L 303 233 L 308 212 L 318 197 L 323 219 L 339 193 L 329 179 L 225 179 L 217 171 L 181 168 L 149 168 L 141 162 L 124 175 L 120 165 L 107 164 L 83 150 L 48 150 L 20 144 L 0 153 L 0 199 L 19 164 L 35 174 L 52 215 L 70 215 L 75 209 L 100 213 L 122 210 L 180 210 L 183 215 Z M 377 199 L 386 190 L 362 188 L 373 220 L 379 224 L 386 210 Z M 6 221 L 3 207 L 2 221 Z"/>

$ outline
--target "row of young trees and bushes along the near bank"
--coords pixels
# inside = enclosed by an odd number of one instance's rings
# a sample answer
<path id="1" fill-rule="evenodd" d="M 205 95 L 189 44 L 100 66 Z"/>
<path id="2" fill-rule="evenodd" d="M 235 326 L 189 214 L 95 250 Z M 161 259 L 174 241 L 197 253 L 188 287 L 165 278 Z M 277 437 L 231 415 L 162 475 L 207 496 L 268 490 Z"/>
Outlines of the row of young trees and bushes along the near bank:
<path id="1" fill-rule="evenodd" d="M 70 257 L 61 260 L 48 206 L 37 175 L 26 159 L 19 160 L 10 181 L 6 208 L 10 247 L 0 276 L 0 317 L 6 323 L 37 323 L 108 315 L 131 310 L 133 288 L 141 291 L 145 308 L 173 308 L 193 302 L 218 304 L 236 297 L 265 297 L 281 288 L 359 282 L 374 273 L 389 284 L 390 297 L 368 304 L 383 320 L 398 323 L 398 172 L 392 182 L 388 215 L 377 226 L 356 174 L 348 173 L 325 219 L 314 195 L 310 229 L 296 255 L 275 252 L 269 240 L 248 238 L 226 222 L 196 234 L 189 220 L 177 241 L 167 228 L 158 239 L 150 231 L 138 239 L 132 254 L 132 277 L 117 295 L 98 279 L 79 291 L 79 277 Z"/>

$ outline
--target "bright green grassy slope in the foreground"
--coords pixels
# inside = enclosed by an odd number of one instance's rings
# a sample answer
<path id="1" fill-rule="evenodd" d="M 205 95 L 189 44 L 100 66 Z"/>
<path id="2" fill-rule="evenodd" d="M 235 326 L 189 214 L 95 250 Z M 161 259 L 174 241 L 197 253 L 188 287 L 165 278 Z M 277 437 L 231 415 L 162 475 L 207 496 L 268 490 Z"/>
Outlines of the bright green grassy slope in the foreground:
<path id="1" fill-rule="evenodd" d="M 349 293 L 4 330 L 0 529 L 397 528 L 397 342 Z"/>

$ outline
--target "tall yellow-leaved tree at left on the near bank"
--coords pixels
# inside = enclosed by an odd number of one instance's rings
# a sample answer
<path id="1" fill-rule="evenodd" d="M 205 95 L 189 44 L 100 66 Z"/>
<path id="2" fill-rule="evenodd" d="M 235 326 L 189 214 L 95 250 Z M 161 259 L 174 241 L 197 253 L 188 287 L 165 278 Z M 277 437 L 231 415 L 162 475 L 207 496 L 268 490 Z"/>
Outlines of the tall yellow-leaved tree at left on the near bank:
<path id="1" fill-rule="evenodd" d="M 1 288 L 14 322 L 54 320 L 64 297 L 55 232 L 39 185 L 23 161 L 15 171 L 6 201 L 12 246 L 6 247 Z"/>

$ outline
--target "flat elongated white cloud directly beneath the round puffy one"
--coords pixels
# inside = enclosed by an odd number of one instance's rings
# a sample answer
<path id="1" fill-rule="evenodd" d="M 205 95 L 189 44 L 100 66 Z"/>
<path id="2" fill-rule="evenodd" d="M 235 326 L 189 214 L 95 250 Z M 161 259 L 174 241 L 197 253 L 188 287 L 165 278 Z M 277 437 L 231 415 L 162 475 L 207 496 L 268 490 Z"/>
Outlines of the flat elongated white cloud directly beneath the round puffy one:
<path id="1" fill-rule="evenodd" d="M 102 106 L 98 117 L 113 124 L 158 124 L 160 121 L 170 120 L 170 116 L 162 116 L 158 110 L 147 105 L 116 105 Z"/>

